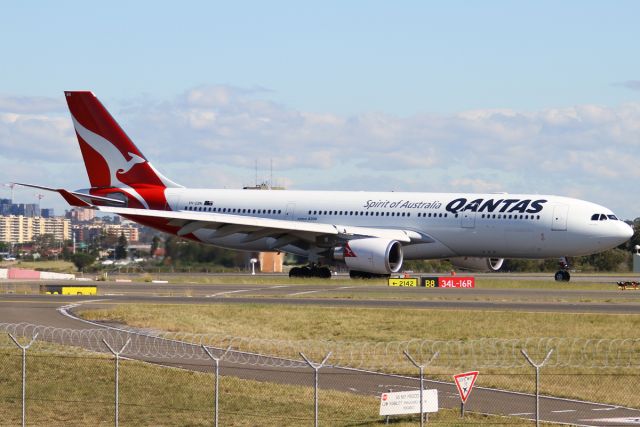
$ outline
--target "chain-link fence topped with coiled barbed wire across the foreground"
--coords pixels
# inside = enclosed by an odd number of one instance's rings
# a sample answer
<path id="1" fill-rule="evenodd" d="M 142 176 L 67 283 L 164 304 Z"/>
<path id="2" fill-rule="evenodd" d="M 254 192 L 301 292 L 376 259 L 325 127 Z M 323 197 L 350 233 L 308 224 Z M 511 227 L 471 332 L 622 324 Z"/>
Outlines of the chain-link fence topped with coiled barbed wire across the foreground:
<path id="1" fill-rule="evenodd" d="M 28 324 L 0 331 L 0 425 L 375 425 L 385 422 L 381 395 L 418 389 L 420 365 L 441 408 L 429 424 L 529 424 L 538 410 L 543 421 L 582 425 L 640 417 L 640 340 L 359 345 Z M 539 408 L 523 350 L 535 364 L 549 356 Z M 461 420 L 452 377 L 467 370 L 480 375 Z"/>

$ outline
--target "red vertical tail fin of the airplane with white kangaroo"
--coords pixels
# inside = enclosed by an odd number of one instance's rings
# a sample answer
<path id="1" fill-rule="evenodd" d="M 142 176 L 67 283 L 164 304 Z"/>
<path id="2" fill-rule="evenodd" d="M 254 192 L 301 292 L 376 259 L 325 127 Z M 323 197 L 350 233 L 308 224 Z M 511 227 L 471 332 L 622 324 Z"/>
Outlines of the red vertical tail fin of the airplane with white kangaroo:
<path id="1" fill-rule="evenodd" d="M 158 190 L 180 187 L 154 169 L 93 93 L 68 91 L 65 96 L 93 191 L 117 188 L 131 202 L 150 207 L 162 202 L 156 200 Z"/>

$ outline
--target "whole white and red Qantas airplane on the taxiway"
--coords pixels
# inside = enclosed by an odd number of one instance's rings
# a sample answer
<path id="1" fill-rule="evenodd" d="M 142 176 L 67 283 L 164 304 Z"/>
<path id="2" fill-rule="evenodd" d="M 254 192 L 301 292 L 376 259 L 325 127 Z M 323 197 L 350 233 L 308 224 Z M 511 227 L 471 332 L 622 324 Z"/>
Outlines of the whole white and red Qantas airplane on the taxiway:
<path id="1" fill-rule="evenodd" d="M 185 188 L 151 165 L 92 92 L 65 97 L 91 187 L 20 185 L 186 239 L 306 257 L 290 277 L 330 277 L 337 265 L 354 278 L 389 276 L 415 259 L 497 271 L 505 258 L 559 258 L 554 277 L 568 281 L 567 257 L 633 235 L 611 210 L 554 195 Z"/>

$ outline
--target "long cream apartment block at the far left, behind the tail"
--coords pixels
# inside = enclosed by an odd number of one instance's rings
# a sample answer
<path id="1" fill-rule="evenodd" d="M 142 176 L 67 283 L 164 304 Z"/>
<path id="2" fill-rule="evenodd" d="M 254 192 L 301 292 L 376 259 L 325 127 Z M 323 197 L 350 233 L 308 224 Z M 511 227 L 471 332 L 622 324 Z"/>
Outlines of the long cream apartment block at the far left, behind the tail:
<path id="1" fill-rule="evenodd" d="M 32 242 L 35 236 L 53 235 L 55 240 L 71 239 L 71 222 L 66 218 L 0 216 L 0 241 L 9 243 Z"/>

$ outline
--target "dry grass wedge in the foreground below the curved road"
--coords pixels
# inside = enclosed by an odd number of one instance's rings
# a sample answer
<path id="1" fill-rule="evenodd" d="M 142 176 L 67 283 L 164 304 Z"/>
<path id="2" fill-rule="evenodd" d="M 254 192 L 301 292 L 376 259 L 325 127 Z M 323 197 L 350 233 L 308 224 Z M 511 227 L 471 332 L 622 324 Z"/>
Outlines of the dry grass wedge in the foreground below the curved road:
<path id="1" fill-rule="evenodd" d="M 68 352 L 68 350 L 67 350 Z M 37 351 L 27 357 L 28 425 L 113 425 L 113 359 L 80 352 L 52 355 Z M 21 419 L 21 357 L 18 351 L 0 351 L 0 424 L 19 425 Z M 311 378 L 310 378 L 311 380 Z M 121 425 L 205 426 L 213 422 L 211 373 L 159 367 L 136 361 L 120 364 Z M 384 424 L 376 397 L 320 391 L 322 425 L 370 426 Z M 235 377 L 220 378 L 219 421 L 225 426 L 299 426 L 313 424 L 313 389 Z M 416 425 L 403 417 L 395 426 Z M 467 414 L 457 410 L 430 414 L 430 424 L 528 425 L 517 418 Z"/>

